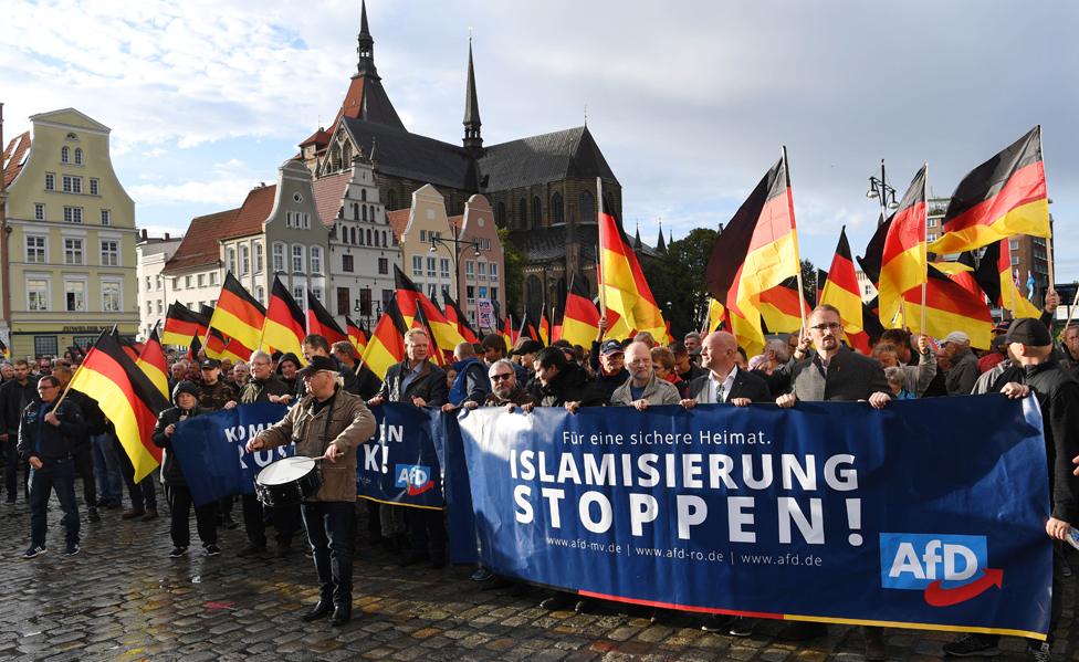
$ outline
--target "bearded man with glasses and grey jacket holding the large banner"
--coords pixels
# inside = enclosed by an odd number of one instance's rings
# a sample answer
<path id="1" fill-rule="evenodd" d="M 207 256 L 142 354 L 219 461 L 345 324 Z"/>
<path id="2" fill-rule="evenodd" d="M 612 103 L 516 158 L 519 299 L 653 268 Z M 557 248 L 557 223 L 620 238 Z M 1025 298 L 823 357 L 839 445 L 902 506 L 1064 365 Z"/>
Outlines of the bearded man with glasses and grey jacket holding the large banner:
<path id="1" fill-rule="evenodd" d="M 839 319 L 839 311 L 827 304 L 810 313 L 808 334 L 799 340 L 789 367 L 792 391 L 776 398 L 776 404 L 790 408 L 799 400 L 868 400 L 874 409 L 882 409 L 892 401 L 880 364 L 840 341 Z M 806 621 L 788 627 L 783 635 L 800 641 L 827 633 L 824 623 Z M 866 659 L 888 659 L 881 628 L 866 628 Z"/>

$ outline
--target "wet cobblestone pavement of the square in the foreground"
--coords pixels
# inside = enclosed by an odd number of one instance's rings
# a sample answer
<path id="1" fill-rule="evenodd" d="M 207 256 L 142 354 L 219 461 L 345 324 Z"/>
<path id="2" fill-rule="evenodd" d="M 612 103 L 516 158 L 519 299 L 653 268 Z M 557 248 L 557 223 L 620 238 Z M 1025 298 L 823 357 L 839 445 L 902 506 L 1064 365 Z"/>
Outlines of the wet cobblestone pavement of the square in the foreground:
<path id="1" fill-rule="evenodd" d="M 49 553 L 28 560 L 21 554 L 29 544 L 29 507 L 21 501 L 0 504 L 0 660 L 862 658 L 858 628 L 832 627 L 827 638 L 798 647 L 776 639 L 781 623 L 775 622 L 740 639 L 702 632 L 693 614 L 666 614 L 652 624 L 649 611 L 625 606 L 547 612 L 537 607 L 541 589 L 481 590 L 469 580 L 471 568 L 402 570 L 396 558 L 363 540 L 353 621 L 342 629 L 326 621 L 308 624 L 298 614 L 314 602 L 316 590 L 314 568 L 303 554 L 283 560 L 237 558 L 245 542 L 241 528 L 222 532 L 221 556 L 208 558 L 196 544 L 187 558 L 172 560 L 164 513 L 142 523 L 123 522 L 118 511 L 109 511 L 98 524 L 86 523 L 83 513 L 83 551 L 66 558 L 59 518 L 53 502 Z M 363 525 L 359 530 L 365 535 Z M 1079 659 L 1070 632 L 1072 593 L 1069 589 L 1058 633 L 1059 660 Z M 953 638 L 891 630 L 887 642 L 893 660 L 936 660 Z M 1025 659 L 1023 645 L 1003 640 L 997 659 Z"/>

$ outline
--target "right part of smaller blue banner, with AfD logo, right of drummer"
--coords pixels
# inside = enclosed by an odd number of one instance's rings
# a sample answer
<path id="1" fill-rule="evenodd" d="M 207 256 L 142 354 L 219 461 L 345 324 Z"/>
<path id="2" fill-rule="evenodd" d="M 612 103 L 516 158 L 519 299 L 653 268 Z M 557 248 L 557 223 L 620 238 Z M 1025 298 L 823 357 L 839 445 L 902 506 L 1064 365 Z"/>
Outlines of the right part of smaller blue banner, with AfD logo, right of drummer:
<path id="1" fill-rule="evenodd" d="M 434 428 L 442 416 L 437 408 L 385 402 L 373 407 L 375 435 L 362 445 L 356 461 L 359 496 L 379 502 L 441 508 L 441 439 Z M 449 418 L 449 417 L 446 417 Z"/>

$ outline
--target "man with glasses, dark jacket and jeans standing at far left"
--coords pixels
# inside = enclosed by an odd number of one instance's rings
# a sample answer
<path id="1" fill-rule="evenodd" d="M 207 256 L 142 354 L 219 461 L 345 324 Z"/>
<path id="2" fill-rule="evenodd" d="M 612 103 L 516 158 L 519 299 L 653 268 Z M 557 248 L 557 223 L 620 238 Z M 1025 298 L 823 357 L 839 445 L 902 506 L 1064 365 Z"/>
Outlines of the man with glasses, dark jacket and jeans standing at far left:
<path id="1" fill-rule="evenodd" d="M 38 380 L 39 402 L 31 402 L 19 422 L 19 455 L 30 463 L 30 548 L 24 558 L 45 551 L 49 495 L 56 493 L 67 532 L 64 555 L 78 554 L 78 506 L 75 504 L 75 442 L 82 437 L 83 417 L 73 402 L 55 403 L 60 380 Z"/>

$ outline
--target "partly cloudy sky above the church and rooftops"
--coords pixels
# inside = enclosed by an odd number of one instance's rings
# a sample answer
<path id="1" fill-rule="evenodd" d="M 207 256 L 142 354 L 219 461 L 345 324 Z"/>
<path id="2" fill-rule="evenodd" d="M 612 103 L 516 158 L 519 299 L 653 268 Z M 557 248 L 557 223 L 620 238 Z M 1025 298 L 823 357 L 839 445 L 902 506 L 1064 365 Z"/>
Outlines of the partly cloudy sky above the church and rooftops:
<path id="1" fill-rule="evenodd" d="M 6 3 L 4 136 L 75 107 L 113 129 L 136 223 L 182 232 L 238 207 L 356 67 L 358 0 Z M 412 133 L 459 144 L 470 33 L 483 138 L 588 128 L 653 243 L 726 222 L 789 155 L 802 255 L 861 254 L 869 177 L 945 197 L 1043 126 L 1056 280 L 1079 279 L 1079 4 L 370 0 L 375 62 Z"/>

